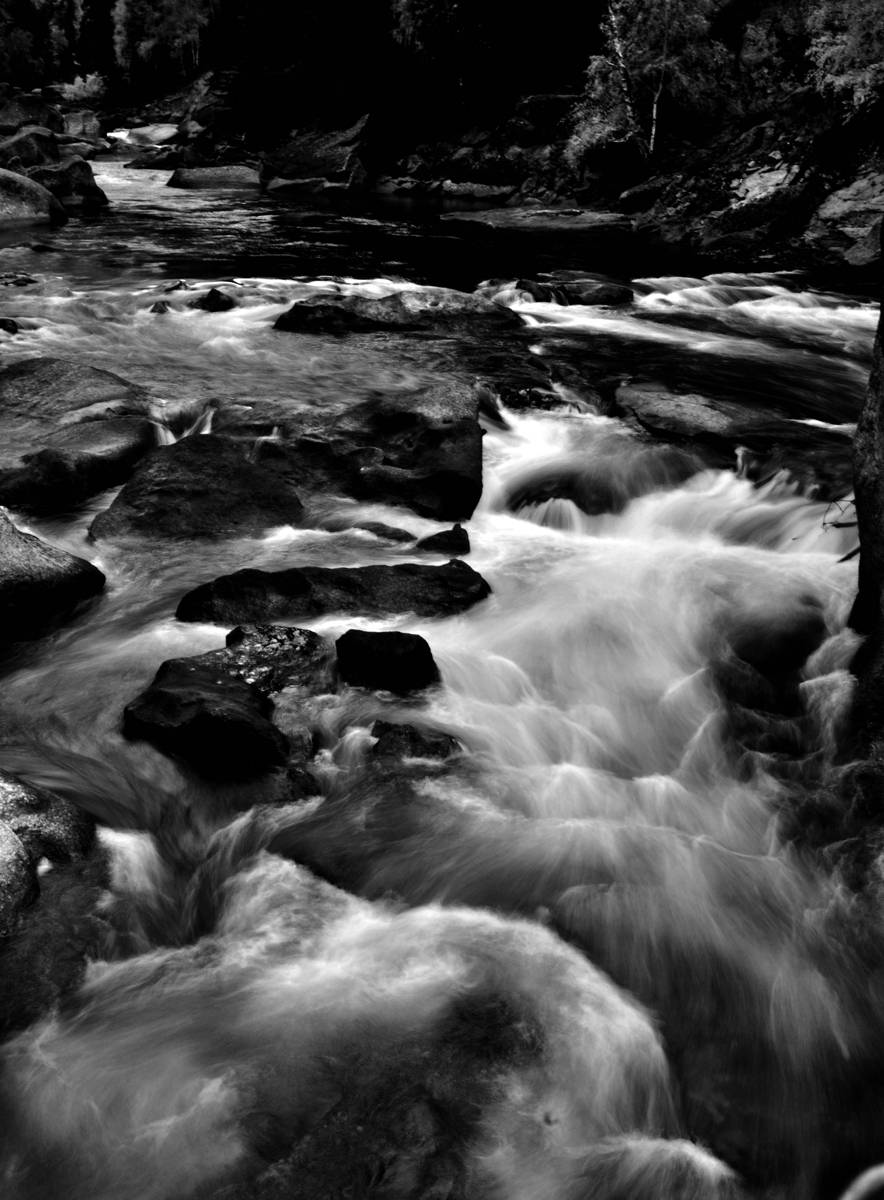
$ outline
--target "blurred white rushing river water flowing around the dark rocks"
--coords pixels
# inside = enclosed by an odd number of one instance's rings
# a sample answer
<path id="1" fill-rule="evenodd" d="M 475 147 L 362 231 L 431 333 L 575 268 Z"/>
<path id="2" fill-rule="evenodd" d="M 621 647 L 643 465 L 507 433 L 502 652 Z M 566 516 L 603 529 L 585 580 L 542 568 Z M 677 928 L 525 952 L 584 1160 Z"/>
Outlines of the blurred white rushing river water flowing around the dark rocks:
<path id="1" fill-rule="evenodd" d="M 431 382 L 439 352 L 402 336 L 275 332 L 293 300 L 473 289 L 495 275 L 539 359 L 588 385 L 655 379 L 760 403 L 843 457 L 877 322 L 867 301 L 793 275 L 717 275 L 635 278 L 626 307 L 535 302 L 505 282 L 549 265 L 535 251 L 517 262 L 444 227 L 172 192 L 164 179 L 100 166 L 107 217 L 0 251 L 2 270 L 37 277 L 0 298 L 23 325 L 2 344 L 10 359 L 76 359 L 206 413 L 284 401 L 315 420 Z M 151 313 L 180 278 L 224 282 L 237 307 Z M 22 520 L 92 559 L 108 588 L 12 666 L 2 715 L 50 748 L 47 782 L 70 769 L 116 828 L 102 833 L 104 958 L 68 1012 L 4 1051 L 11 1200 L 687 1200 L 730 1195 L 734 1172 L 751 1194 L 810 1200 L 876 1160 L 884 956 L 853 937 L 849 892 L 787 834 L 837 769 L 855 530 L 786 473 L 753 482 L 739 457 L 636 488 L 615 512 L 530 488 L 513 504 L 539 472 L 599 467 L 629 492 L 639 469 L 619 419 L 579 388 L 559 395 L 486 432 L 469 562 L 493 596 L 453 618 L 357 619 L 425 635 L 443 686 L 420 709 L 325 697 L 321 799 L 200 786 L 124 742 L 122 708 L 161 661 L 223 646 L 225 629 L 174 619 L 187 589 L 243 565 L 413 557 L 336 516 L 434 524 L 330 498 L 321 529 L 96 545 L 86 529 L 110 494 Z M 777 628 L 808 605 L 829 636 L 794 707 L 735 707 L 721 685 L 730 631 Z M 351 624 L 341 613 L 312 628 Z M 284 694 L 277 712 L 284 726 Z M 368 727 L 391 713 L 465 752 L 416 782 L 367 776 Z M 351 894 L 293 859 L 325 878 L 336 864 Z M 879 937 L 873 914 L 861 920 Z M 513 1044 L 440 1067 L 452 1010 L 491 996 Z M 324 1184 L 317 1163 L 359 1158 L 333 1142 L 248 1190 L 279 1128 L 289 1142 L 318 1136 L 391 1063 L 409 1079 L 447 1072 L 471 1106 L 459 1192 L 402 1171 Z"/>

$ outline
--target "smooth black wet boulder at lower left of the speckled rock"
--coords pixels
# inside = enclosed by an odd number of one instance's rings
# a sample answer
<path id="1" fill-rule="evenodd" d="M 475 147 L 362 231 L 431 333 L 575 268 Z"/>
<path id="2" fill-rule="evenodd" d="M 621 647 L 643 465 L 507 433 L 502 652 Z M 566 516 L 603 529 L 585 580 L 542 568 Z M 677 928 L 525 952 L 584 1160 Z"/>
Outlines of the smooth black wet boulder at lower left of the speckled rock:
<path id="1" fill-rule="evenodd" d="M 209 660 L 209 661 L 206 661 Z M 127 738 L 143 738 L 210 778 L 249 779 L 288 758 L 273 706 L 212 655 L 169 659 L 124 713 Z"/>

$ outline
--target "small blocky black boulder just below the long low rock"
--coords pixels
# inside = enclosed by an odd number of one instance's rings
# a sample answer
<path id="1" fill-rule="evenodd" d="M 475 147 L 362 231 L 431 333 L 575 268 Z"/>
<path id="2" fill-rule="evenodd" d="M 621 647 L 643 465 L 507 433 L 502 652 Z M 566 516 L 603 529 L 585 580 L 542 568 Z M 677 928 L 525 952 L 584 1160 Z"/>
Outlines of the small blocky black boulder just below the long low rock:
<path id="1" fill-rule="evenodd" d="M 439 682 L 433 653 L 417 634 L 348 629 L 335 648 L 338 674 L 357 688 L 404 696 Z"/>

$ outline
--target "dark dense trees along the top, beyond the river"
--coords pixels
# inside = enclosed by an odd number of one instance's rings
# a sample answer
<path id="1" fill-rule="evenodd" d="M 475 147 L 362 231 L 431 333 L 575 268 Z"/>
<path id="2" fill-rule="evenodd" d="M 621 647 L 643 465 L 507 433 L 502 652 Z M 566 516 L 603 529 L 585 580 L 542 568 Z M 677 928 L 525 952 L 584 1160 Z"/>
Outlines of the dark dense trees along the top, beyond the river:
<path id="1" fill-rule="evenodd" d="M 884 6 L 870 0 L 0 0 L 0 79 L 97 73 L 157 95 L 202 71 L 277 79 L 335 119 L 395 109 L 450 126 L 518 96 L 566 92 L 576 157 L 631 139 L 653 158 L 722 116 L 804 86 L 846 112 L 884 88 Z M 283 80 L 282 83 L 279 80 Z M 331 119 L 331 118 L 330 118 Z"/>

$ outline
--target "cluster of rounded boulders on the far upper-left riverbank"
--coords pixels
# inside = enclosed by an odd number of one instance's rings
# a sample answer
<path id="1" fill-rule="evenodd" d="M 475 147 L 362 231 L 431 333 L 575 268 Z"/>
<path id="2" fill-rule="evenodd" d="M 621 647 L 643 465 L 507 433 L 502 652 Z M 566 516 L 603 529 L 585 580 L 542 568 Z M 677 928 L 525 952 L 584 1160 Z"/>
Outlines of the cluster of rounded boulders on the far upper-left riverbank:
<path id="1" fill-rule="evenodd" d="M 0 228 L 103 208 L 88 160 L 109 150 L 92 112 L 64 110 L 32 92 L 0 100 Z"/>

